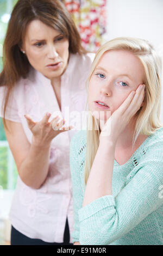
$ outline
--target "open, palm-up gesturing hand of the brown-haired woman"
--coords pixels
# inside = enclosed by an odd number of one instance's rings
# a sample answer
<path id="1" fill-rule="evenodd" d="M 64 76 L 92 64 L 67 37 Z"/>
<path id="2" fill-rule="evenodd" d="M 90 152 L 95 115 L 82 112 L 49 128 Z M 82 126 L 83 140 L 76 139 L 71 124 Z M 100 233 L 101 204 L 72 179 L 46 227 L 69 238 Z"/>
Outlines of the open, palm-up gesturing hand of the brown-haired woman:
<path id="1" fill-rule="evenodd" d="M 51 141 L 55 136 L 59 133 L 71 130 L 73 126 L 62 127 L 65 124 L 65 120 L 62 119 L 59 123 L 60 117 L 55 117 L 52 119 L 51 122 L 48 122 L 49 118 L 51 117 L 50 113 L 47 113 L 43 119 L 39 122 L 35 122 L 32 120 L 29 115 L 24 115 L 27 119 L 28 127 L 30 131 L 33 133 L 33 142 L 36 145 L 42 145 L 45 147 L 46 145 L 49 146 Z"/>

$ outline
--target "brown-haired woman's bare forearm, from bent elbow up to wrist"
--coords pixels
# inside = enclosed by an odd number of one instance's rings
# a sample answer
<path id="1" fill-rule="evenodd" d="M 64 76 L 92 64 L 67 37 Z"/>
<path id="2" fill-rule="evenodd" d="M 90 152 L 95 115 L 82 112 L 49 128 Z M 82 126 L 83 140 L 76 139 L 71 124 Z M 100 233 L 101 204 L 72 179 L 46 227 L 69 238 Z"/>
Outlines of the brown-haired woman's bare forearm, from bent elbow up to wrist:
<path id="1" fill-rule="evenodd" d="M 20 178 L 27 186 L 38 189 L 45 181 L 49 168 L 50 150 L 51 144 L 45 146 L 32 142 L 29 154 L 19 169 Z"/>

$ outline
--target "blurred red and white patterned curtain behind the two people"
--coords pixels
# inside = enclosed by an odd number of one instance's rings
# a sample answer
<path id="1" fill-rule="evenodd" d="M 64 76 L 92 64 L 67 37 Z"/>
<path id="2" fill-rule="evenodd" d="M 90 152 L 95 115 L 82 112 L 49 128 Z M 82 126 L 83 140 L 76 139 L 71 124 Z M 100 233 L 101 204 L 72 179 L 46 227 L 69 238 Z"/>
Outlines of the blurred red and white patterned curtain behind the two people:
<path id="1" fill-rule="evenodd" d="M 96 52 L 106 33 L 106 0 L 63 0 L 87 51 Z"/>

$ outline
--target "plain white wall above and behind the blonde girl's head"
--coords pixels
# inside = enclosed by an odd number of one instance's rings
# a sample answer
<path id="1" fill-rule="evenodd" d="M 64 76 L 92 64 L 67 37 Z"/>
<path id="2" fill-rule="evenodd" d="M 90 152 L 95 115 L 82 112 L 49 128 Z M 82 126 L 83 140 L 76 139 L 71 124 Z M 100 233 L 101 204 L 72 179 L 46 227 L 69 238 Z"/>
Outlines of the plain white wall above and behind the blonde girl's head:
<path id="1" fill-rule="evenodd" d="M 163 0 L 107 0 L 107 19 L 105 40 L 118 36 L 149 40 L 163 63 Z M 163 123 L 163 87 L 161 120 Z"/>

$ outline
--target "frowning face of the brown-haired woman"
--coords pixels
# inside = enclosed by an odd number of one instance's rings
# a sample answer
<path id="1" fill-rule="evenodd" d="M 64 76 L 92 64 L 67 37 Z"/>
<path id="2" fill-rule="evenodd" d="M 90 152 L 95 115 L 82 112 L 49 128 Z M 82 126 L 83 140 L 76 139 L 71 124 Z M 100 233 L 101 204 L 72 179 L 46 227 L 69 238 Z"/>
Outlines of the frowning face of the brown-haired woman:
<path id="1" fill-rule="evenodd" d="M 68 39 L 39 20 L 29 23 L 22 50 L 29 63 L 47 78 L 60 77 L 68 63 Z"/>

